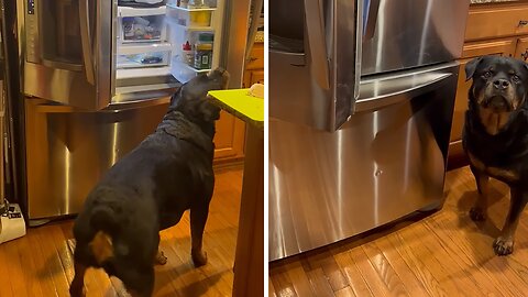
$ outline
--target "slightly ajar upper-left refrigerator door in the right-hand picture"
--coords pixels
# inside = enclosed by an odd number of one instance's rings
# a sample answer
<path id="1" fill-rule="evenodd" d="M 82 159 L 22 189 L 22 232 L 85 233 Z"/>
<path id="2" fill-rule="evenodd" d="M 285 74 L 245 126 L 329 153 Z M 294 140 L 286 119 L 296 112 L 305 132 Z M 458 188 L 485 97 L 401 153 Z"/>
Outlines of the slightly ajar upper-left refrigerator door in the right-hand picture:
<path id="1" fill-rule="evenodd" d="M 359 95 L 363 1 L 270 1 L 270 114 L 336 131 Z"/>

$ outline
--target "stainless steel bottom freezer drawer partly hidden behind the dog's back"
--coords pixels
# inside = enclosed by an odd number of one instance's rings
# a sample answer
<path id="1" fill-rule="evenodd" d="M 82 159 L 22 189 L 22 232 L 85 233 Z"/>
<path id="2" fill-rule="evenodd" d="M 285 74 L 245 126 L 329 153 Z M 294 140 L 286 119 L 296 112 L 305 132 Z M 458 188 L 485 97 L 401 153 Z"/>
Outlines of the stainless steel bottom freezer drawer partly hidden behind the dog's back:
<path id="1" fill-rule="evenodd" d="M 102 174 L 155 130 L 168 98 L 98 112 L 25 102 L 28 207 L 34 220 L 77 213 Z"/>

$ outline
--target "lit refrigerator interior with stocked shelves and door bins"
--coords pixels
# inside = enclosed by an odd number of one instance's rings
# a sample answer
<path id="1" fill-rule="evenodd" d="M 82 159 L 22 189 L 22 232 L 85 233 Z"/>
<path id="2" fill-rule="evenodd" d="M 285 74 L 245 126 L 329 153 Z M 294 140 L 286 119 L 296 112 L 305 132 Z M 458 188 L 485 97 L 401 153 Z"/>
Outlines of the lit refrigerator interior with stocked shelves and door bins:
<path id="1" fill-rule="evenodd" d="M 172 87 L 217 67 L 223 10 L 216 0 L 169 0 L 151 8 L 118 2 L 116 92 Z"/>

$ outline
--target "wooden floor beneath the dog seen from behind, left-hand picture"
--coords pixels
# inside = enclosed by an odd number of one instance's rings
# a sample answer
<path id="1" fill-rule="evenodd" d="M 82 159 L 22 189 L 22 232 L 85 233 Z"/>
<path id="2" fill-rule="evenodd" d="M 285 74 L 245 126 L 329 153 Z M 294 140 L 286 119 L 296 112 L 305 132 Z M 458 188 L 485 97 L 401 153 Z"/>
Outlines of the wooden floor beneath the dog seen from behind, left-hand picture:
<path id="1" fill-rule="evenodd" d="M 162 232 L 161 249 L 168 263 L 156 266 L 154 296 L 231 296 L 242 170 L 222 169 L 216 183 L 204 235 L 208 264 L 200 268 L 191 264 L 187 212 L 176 227 Z M 69 296 L 72 224 L 68 220 L 30 229 L 24 238 L 1 244 L 0 296 Z M 122 292 L 121 284 L 102 271 L 88 271 L 85 284 L 87 296 Z"/>

